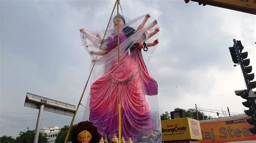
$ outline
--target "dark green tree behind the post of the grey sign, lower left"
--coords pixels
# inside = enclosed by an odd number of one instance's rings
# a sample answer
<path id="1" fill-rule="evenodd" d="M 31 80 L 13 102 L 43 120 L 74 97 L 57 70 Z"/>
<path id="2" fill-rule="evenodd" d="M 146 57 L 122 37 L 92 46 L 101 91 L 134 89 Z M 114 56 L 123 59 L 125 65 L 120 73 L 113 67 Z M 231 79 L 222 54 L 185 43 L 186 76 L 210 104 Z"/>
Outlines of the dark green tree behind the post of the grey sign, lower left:
<path id="1" fill-rule="evenodd" d="M 28 130 L 25 132 L 19 132 L 19 137 L 16 138 L 15 142 L 20 143 L 20 142 L 33 142 L 33 137 L 35 135 L 35 130 Z M 47 142 L 47 137 L 46 134 L 44 133 L 39 133 L 38 137 L 38 142 L 39 143 L 46 143 Z"/>

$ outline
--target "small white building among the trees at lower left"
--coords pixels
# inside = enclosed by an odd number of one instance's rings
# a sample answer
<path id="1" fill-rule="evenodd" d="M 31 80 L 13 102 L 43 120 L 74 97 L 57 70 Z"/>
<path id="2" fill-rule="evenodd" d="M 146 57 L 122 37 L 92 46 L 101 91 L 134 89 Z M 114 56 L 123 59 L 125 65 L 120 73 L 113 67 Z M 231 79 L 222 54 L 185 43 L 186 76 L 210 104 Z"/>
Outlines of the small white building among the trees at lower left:
<path id="1" fill-rule="evenodd" d="M 58 133 L 60 132 L 59 127 L 57 126 L 51 126 L 49 128 L 42 128 L 40 130 L 41 133 L 46 133 L 47 134 L 47 142 L 55 142 L 56 137 Z"/>

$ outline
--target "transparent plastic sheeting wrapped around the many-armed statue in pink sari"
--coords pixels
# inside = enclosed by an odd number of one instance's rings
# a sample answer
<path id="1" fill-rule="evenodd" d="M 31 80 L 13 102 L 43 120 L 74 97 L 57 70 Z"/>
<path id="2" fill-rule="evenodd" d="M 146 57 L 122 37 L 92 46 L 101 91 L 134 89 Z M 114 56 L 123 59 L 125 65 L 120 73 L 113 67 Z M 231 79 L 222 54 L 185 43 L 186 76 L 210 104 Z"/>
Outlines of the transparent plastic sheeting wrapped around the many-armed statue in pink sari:
<path id="1" fill-rule="evenodd" d="M 160 142 L 158 84 L 144 62 L 158 44 L 157 20 L 149 14 L 133 20 L 119 15 L 119 54 L 117 23 L 115 16 L 104 39 L 105 31 L 80 29 L 83 45 L 92 65 L 95 63 L 83 120 L 92 121 L 99 136 L 118 135 L 120 102 L 122 137 L 131 137 L 133 142 Z M 143 54 L 148 56 L 143 59 Z"/>

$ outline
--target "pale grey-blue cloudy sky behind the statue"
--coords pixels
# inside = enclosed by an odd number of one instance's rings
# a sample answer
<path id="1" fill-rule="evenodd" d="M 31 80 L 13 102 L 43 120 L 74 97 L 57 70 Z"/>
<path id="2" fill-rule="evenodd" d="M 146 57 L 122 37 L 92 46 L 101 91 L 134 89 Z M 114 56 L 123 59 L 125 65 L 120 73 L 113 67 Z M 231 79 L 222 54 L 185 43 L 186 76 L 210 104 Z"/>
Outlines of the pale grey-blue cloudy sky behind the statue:
<path id="1" fill-rule="evenodd" d="M 244 100 L 234 90 L 245 89 L 245 83 L 228 47 L 233 39 L 241 40 L 255 72 L 254 15 L 183 0 L 120 3 L 130 19 L 146 13 L 158 19 L 160 43 L 149 69 L 159 84 L 160 113 L 195 104 L 224 112 L 229 107 L 233 115 L 243 112 Z M 114 0 L 87 0 L 87 5 L 85 0 L 1 1 L 0 136 L 35 129 L 38 110 L 24 106 L 26 92 L 78 104 L 90 70 L 79 28 L 103 30 Z M 83 110 L 80 106 L 76 123 Z M 41 127 L 70 121 L 44 112 Z"/>

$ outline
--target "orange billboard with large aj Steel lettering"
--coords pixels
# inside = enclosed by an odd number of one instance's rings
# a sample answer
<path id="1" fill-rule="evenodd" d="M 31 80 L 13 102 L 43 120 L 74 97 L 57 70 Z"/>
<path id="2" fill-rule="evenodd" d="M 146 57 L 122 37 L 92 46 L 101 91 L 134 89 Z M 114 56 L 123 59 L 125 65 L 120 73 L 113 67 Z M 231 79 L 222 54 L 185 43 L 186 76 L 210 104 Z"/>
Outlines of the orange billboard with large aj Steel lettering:
<path id="1" fill-rule="evenodd" d="M 256 140 L 256 135 L 249 131 L 251 127 L 246 119 L 221 120 L 214 122 L 200 122 L 203 140 L 199 142 L 231 142 Z"/>

